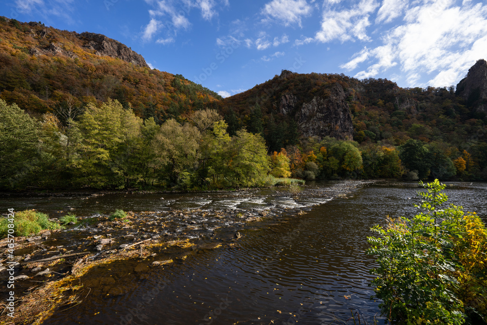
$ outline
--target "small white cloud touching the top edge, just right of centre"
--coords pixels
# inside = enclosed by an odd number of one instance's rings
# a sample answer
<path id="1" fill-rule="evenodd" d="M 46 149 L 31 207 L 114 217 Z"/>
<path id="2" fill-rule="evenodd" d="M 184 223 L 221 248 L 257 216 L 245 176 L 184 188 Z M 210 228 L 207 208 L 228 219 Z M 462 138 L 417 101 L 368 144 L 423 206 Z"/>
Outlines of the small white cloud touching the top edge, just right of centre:
<path id="1" fill-rule="evenodd" d="M 301 26 L 301 18 L 309 16 L 312 11 L 313 7 L 306 0 L 272 0 L 265 4 L 262 14 L 278 20 L 285 26 Z"/>

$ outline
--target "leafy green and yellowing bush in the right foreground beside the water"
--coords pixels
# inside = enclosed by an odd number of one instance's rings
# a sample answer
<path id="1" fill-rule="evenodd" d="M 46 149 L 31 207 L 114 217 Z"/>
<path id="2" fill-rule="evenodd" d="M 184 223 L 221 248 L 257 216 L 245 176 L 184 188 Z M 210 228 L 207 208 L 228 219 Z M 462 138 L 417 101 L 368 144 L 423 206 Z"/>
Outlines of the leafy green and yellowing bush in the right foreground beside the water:
<path id="1" fill-rule="evenodd" d="M 369 237 L 375 297 L 382 313 L 398 324 L 463 324 L 487 315 L 487 230 L 475 215 L 450 205 L 437 179 L 423 184 L 419 214 L 388 218 Z"/>

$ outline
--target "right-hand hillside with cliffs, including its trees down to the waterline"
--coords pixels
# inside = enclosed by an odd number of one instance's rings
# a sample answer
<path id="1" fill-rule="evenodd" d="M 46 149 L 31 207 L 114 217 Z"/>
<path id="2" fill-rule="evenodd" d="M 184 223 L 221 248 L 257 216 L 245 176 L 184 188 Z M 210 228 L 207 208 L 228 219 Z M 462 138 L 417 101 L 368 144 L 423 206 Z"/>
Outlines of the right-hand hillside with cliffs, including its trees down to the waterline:
<path id="1" fill-rule="evenodd" d="M 353 139 L 362 156 L 362 167 L 352 173 L 355 176 L 485 180 L 486 94 L 483 59 L 470 68 L 456 91 L 455 87 L 401 88 L 387 79 L 284 70 L 225 98 L 220 109 L 229 130 L 244 126 L 261 133 L 270 152 L 285 148 L 289 153 L 298 145 L 301 152 L 312 150 L 319 158 L 319 148 L 331 146 L 323 140 L 326 136 Z M 389 154 L 384 148 L 393 150 L 400 166 L 378 163 Z M 318 164 L 316 175 L 330 177 L 325 167 L 324 162 Z M 340 175 L 347 173 L 335 174 Z"/>

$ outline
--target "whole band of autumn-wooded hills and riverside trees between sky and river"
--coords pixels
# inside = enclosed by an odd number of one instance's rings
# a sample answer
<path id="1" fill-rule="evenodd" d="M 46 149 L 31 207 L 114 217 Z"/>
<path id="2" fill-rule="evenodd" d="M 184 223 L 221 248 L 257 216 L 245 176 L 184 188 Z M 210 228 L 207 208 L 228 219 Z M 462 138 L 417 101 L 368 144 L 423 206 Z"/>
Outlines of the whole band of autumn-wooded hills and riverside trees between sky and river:
<path id="1" fill-rule="evenodd" d="M 283 70 L 223 99 L 107 36 L 0 19 L 4 189 L 487 180 L 486 107 L 483 59 L 456 89 Z"/>

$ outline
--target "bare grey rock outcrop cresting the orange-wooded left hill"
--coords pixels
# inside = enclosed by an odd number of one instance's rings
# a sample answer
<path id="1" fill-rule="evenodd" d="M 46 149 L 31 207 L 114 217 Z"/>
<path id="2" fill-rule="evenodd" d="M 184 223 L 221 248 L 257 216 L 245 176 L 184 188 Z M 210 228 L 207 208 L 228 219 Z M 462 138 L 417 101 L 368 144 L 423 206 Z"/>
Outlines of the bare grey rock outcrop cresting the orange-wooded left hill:
<path id="1" fill-rule="evenodd" d="M 88 32 L 81 33 L 78 37 L 85 39 L 87 41 L 85 47 L 94 49 L 97 55 L 117 57 L 126 62 L 149 68 L 144 57 L 117 40 L 108 38 L 105 35 Z"/>

